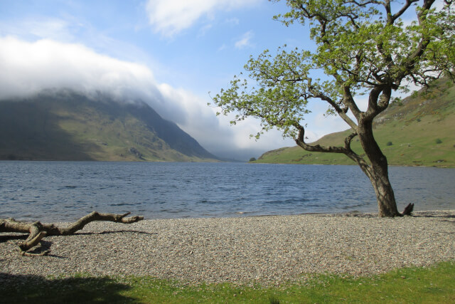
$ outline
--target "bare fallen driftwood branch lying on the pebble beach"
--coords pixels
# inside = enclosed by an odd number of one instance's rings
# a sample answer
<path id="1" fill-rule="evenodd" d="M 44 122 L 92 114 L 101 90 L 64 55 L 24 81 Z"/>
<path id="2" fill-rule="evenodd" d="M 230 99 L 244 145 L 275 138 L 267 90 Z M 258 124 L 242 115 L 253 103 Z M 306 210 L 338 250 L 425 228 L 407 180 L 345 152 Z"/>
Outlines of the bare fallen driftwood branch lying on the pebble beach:
<path id="1" fill-rule="evenodd" d="M 31 248 L 38 245 L 45 236 L 69 236 L 76 231 L 81 230 L 85 225 L 92 221 L 114 221 L 116 223 L 131 224 L 144 219 L 144 216 L 125 217 L 129 214 L 130 212 L 127 212 L 126 214 L 102 214 L 93 211 L 66 228 L 60 228 L 54 224 L 42 224 L 39 221 L 30 223 L 26 221 L 16 221 L 15 219 L 0 219 L 0 232 L 28 233 L 28 238 L 19 244 L 21 254 L 23 256 L 45 256 L 48 255 L 50 251 L 44 251 L 42 253 L 28 252 Z"/>

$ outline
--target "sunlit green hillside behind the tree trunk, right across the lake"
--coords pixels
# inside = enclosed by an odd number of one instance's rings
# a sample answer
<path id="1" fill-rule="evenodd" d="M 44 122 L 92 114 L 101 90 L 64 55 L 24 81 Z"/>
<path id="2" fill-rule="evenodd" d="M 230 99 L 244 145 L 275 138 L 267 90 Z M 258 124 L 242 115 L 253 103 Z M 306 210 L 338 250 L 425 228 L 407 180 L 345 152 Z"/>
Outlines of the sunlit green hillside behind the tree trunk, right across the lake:
<path id="1" fill-rule="evenodd" d="M 421 90 L 390 105 L 375 120 L 375 139 L 390 165 L 455 167 L 455 86 L 439 80 L 431 90 Z M 314 142 L 343 145 L 350 130 Z M 353 140 L 360 153 L 360 142 Z M 265 152 L 255 162 L 289 164 L 355 164 L 344 154 L 307 152 L 284 147 Z"/>

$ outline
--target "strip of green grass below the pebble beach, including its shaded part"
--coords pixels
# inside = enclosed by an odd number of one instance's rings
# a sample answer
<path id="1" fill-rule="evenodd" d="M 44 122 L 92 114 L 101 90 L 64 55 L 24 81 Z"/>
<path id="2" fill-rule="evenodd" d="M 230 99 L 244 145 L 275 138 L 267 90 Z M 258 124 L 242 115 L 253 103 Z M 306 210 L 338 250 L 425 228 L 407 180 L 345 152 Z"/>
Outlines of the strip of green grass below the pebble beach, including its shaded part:
<path id="1" fill-rule="evenodd" d="M 279 287 L 186 285 L 149 277 L 80 274 L 71 278 L 0 274 L 0 281 L 0 303 L 455 303 L 453 261 L 362 278 L 317 275 Z"/>

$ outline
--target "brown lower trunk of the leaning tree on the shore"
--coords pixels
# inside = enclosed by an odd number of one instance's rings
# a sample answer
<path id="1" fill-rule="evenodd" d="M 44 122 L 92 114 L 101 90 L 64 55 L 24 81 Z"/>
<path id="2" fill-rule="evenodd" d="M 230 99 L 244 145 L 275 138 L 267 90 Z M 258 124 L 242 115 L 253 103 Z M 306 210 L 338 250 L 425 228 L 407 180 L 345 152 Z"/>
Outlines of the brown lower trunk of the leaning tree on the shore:
<path id="1" fill-rule="evenodd" d="M 375 137 L 373 137 L 372 122 L 359 122 L 358 129 L 360 143 L 371 163 L 370 167 L 363 169 L 363 172 L 368 176 L 373 189 L 375 189 L 379 216 L 401 216 L 402 214 L 398 212 L 395 194 L 389 180 L 387 157 L 382 153 Z"/>

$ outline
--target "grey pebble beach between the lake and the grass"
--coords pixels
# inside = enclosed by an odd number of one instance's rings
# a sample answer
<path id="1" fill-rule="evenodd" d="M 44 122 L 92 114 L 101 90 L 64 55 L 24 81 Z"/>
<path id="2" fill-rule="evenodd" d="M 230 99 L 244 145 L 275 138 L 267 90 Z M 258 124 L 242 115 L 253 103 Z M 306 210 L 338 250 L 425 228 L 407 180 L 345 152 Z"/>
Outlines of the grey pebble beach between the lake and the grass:
<path id="1" fill-rule="evenodd" d="M 51 253 L 38 257 L 21 256 L 17 236 L 0 234 L 0 273 L 268 285 L 299 281 L 304 273 L 363 276 L 453 261 L 455 210 L 395 219 L 303 214 L 93 222 L 73 236 L 43 239 Z"/>

